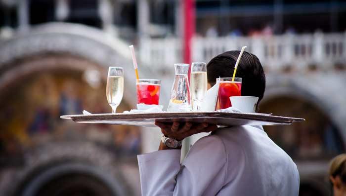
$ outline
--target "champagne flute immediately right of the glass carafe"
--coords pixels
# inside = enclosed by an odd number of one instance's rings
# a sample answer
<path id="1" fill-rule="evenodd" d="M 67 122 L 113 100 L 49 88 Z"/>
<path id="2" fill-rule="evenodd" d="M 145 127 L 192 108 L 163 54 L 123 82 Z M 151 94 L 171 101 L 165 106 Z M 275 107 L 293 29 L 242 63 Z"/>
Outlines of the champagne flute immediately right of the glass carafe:
<path id="1" fill-rule="evenodd" d="M 193 110 L 200 111 L 201 103 L 208 88 L 207 66 L 203 62 L 193 62 L 191 68 L 190 89 L 193 100 Z"/>

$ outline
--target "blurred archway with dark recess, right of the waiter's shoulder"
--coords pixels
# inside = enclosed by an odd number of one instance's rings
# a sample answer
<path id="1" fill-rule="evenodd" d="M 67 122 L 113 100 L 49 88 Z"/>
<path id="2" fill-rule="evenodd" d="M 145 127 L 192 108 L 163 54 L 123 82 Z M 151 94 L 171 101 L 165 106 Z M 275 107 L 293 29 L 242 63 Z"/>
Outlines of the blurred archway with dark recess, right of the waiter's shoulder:
<path id="1" fill-rule="evenodd" d="M 346 75 L 314 72 L 267 74 L 266 78 L 266 91 L 259 105 L 260 111 L 270 113 L 280 108 L 282 115 L 287 115 L 284 111 L 298 111 L 290 114 L 296 117 L 302 117 L 300 115 L 307 111 L 313 111 L 310 114 L 316 115 L 316 118 L 306 118 L 304 123 L 264 129 L 295 160 L 301 178 L 300 194 L 327 195 L 329 186 L 325 183 L 325 176 L 329 160 L 345 152 L 346 148 L 346 92 L 343 90 Z M 270 105 L 271 109 L 268 109 Z M 294 107 L 297 110 L 292 109 Z M 311 123 L 317 125 L 311 128 Z M 304 124 L 308 125 L 304 127 Z M 321 128 L 323 126 L 320 125 L 331 126 Z"/>

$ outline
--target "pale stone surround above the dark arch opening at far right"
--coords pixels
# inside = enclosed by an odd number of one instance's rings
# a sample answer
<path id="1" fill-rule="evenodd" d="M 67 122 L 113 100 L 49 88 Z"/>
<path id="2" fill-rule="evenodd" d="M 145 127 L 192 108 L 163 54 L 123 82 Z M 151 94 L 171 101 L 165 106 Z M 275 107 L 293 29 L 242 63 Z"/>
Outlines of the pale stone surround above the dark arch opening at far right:
<path id="1" fill-rule="evenodd" d="M 313 73 L 304 75 L 267 75 L 264 98 L 296 97 L 312 103 L 326 114 L 346 138 L 346 75 Z"/>

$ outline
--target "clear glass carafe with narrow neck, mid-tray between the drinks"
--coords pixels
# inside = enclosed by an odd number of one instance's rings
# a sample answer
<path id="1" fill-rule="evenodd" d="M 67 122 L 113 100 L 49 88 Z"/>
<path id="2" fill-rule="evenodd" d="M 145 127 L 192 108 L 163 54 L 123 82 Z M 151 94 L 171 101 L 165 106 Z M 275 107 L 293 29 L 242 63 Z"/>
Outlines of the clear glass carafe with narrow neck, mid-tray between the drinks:
<path id="1" fill-rule="evenodd" d="M 175 78 L 171 90 L 168 112 L 191 111 L 191 96 L 187 73 L 189 64 L 174 64 Z"/>

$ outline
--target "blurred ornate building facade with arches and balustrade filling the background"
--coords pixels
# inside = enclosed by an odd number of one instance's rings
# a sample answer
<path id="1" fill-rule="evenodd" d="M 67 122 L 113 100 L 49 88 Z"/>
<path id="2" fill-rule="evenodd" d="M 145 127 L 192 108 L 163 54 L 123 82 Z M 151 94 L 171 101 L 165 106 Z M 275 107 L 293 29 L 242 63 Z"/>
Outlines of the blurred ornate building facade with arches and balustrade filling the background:
<path id="1" fill-rule="evenodd" d="M 111 111 L 111 65 L 125 70 L 119 112 L 135 107 L 130 44 L 165 106 L 173 63 L 247 45 L 267 76 L 260 112 L 306 119 L 264 129 L 297 163 L 300 195 L 328 195 L 346 145 L 345 20 L 343 0 L 0 0 L 0 195 L 140 194 L 136 155 L 157 148 L 156 128 L 59 118 Z"/>

